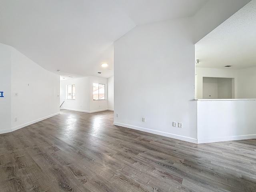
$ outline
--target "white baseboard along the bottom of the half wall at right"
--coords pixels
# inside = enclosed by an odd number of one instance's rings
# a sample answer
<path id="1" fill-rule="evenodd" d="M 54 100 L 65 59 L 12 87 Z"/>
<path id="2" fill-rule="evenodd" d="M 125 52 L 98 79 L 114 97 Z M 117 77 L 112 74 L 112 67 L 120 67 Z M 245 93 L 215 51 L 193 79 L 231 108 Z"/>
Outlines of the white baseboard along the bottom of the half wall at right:
<path id="1" fill-rule="evenodd" d="M 220 137 L 220 138 L 204 138 L 204 139 L 198 139 L 198 144 L 200 144 L 200 143 L 222 142 L 222 141 L 245 140 L 245 139 L 256 139 L 256 134 L 237 135 L 237 136 Z"/>

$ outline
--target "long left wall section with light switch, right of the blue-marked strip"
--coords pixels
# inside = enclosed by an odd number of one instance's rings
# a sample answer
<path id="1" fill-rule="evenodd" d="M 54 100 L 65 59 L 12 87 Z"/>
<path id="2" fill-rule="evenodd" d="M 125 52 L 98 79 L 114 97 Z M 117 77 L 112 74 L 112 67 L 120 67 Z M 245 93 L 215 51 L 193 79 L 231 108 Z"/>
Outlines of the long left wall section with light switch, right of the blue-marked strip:
<path id="1" fill-rule="evenodd" d="M 59 114 L 60 77 L 12 48 L 12 130 Z M 18 93 L 18 96 L 15 96 Z M 17 118 L 17 121 L 14 121 Z"/>

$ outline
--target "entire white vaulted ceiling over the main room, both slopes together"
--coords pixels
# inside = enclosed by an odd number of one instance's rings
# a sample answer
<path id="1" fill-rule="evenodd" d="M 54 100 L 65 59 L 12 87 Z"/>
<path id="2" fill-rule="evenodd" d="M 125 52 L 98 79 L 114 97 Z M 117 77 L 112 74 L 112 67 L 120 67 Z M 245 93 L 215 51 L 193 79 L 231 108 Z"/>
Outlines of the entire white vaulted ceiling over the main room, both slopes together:
<path id="1" fill-rule="evenodd" d="M 113 43 L 132 28 L 198 15 L 210 17 L 210 12 L 221 15 L 221 10 L 222 18 L 216 18 L 219 23 L 212 22 L 218 26 L 249 1 L 0 0 L 0 43 L 13 46 L 56 74 L 108 78 L 113 75 Z M 104 62 L 107 68 L 101 68 Z"/>

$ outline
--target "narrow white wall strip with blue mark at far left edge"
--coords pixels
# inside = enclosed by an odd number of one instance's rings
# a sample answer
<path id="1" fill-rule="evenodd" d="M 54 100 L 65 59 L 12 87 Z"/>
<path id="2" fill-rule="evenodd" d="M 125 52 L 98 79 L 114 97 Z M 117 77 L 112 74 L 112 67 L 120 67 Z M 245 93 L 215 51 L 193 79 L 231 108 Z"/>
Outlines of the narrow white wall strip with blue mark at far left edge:
<path id="1" fill-rule="evenodd" d="M 0 134 L 11 131 L 11 48 L 0 44 Z"/>

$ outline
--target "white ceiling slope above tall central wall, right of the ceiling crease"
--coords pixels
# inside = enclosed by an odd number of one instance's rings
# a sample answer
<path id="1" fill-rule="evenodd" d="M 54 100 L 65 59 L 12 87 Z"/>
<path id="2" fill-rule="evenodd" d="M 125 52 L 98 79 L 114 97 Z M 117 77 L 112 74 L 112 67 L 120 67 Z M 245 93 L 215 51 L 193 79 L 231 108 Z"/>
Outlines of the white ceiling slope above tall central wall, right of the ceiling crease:
<path id="1" fill-rule="evenodd" d="M 208 0 L 114 0 L 136 25 L 194 16 Z"/>

